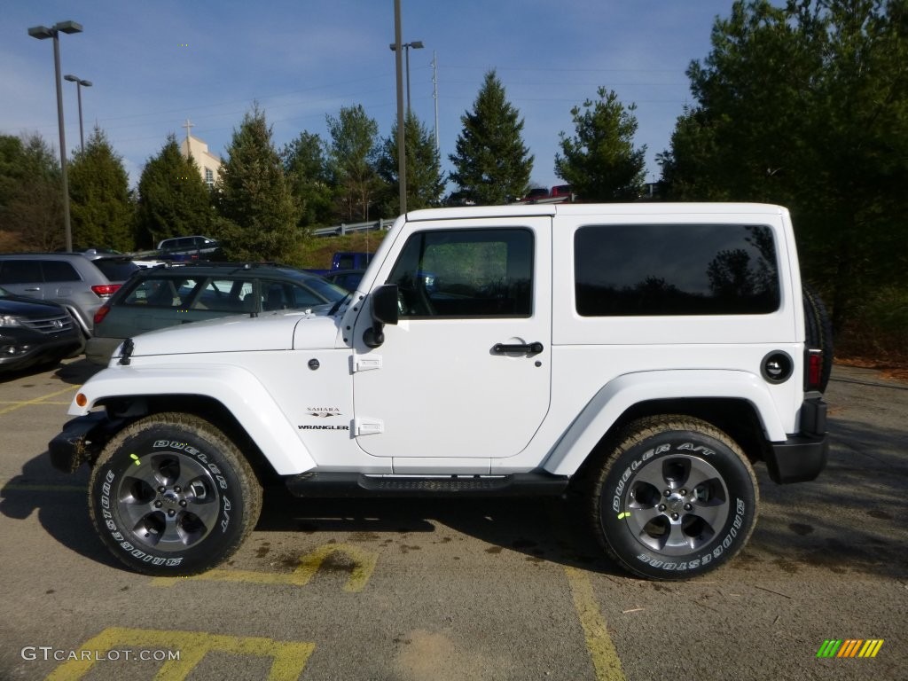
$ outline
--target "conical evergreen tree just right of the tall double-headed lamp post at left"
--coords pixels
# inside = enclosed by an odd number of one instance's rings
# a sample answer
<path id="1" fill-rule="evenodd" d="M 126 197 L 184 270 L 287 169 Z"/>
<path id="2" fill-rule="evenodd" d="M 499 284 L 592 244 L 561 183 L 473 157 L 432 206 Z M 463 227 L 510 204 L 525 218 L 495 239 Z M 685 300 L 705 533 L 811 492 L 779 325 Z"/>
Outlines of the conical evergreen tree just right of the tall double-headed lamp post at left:
<path id="1" fill-rule="evenodd" d="M 74 248 L 133 251 L 135 208 L 123 159 L 100 128 L 68 167 Z"/>

